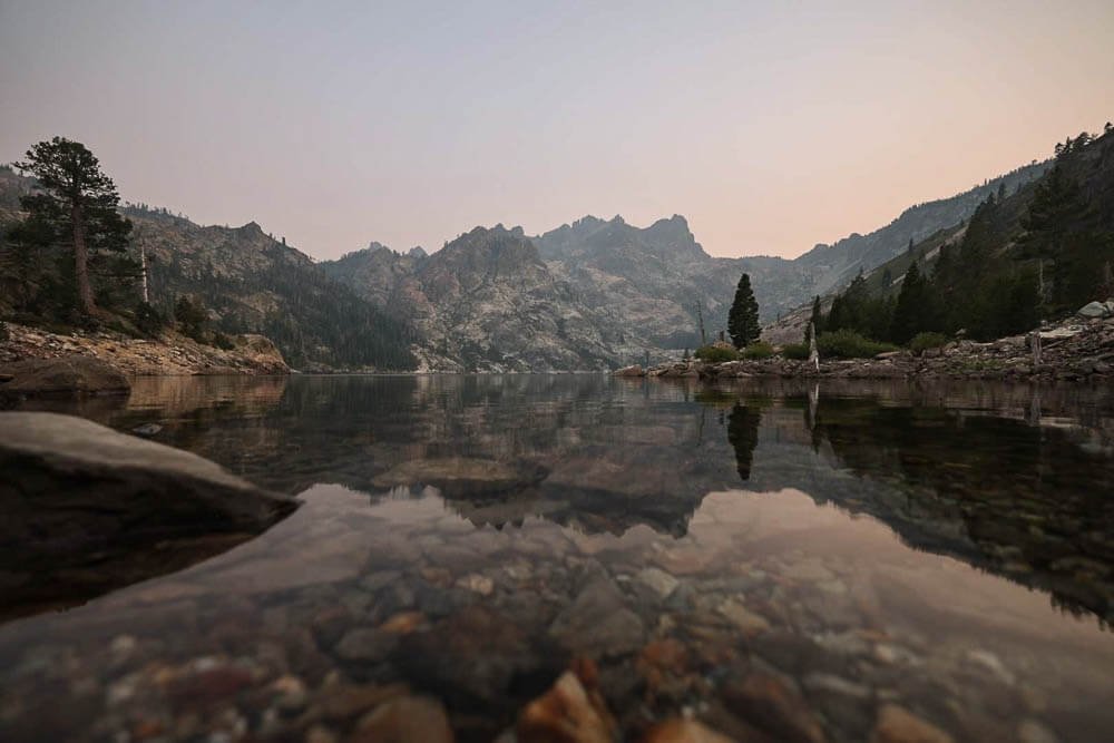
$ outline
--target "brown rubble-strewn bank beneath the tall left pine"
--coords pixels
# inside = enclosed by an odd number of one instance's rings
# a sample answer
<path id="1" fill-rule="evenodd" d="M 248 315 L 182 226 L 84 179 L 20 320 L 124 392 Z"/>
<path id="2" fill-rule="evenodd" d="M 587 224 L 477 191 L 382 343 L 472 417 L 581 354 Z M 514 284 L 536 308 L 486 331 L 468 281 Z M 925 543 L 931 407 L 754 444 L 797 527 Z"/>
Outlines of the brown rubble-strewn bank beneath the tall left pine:
<path id="1" fill-rule="evenodd" d="M 233 348 L 225 350 L 175 332 L 165 332 L 156 341 L 111 331 L 59 334 L 11 322 L 7 329 L 7 339 L 0 341 L 0 365 L 29 359 L 90 356 L 128 377 L 290 373 L 282 353 L 263 335 L 234 335 Z"/>

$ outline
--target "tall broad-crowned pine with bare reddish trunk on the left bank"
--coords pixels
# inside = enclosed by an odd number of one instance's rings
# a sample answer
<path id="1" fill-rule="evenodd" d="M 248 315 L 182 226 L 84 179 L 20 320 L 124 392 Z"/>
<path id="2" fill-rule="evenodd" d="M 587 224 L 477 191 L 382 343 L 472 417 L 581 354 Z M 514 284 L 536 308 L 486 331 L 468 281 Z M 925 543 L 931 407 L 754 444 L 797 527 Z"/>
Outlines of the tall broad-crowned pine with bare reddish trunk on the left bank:
<path id="1" fill-rule="evenodd" d="M 95 315 L 90 274 L 107 277 L 108 289 L 114 278 L 137 275 L 134 261 L 126 255 L 131 222 L 116 211 L 120 201 L 116 185 L 78 141 L 55 137 L 35 145 L 26 157 L 16 167 L 33 175 L 40 190 L 20 199 L 28 216 L 13 229 L 12 239 L 41 250 L 68 247 L 77 309 L 86 316 Z"/>

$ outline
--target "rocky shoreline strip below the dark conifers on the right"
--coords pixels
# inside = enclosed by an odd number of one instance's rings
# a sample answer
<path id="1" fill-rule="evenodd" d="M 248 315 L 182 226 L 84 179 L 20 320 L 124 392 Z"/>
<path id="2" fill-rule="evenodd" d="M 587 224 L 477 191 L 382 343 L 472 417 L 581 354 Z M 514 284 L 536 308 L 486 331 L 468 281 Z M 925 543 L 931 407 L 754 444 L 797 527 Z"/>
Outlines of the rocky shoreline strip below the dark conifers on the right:
<path id="1" fill-rule="evenodd" d="M 678 361 L 643 369 L 625 366 L 616 377 L 730 380 L 751 377 L 848 379 L 973 379 L 1001 381 L 1087 381 L 1114 378 L 1114 317 L 1073 319 L 1042 329 L 1039 362 L 1033 340 L 1014 335 L 988 343 L 959 340 L 921 354 L 880 353 L 873 359 L 821 359 L 819 370 L 808 361 L 783 356 L 709 363 Z"/>

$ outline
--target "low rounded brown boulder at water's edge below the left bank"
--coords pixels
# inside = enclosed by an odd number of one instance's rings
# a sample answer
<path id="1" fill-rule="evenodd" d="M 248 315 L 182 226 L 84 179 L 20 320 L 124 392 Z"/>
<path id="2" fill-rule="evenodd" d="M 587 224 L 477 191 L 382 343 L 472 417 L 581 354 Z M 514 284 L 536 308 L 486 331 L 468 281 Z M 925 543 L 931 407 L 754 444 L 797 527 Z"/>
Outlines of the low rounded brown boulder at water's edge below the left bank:
<path id="1" fill-rule="evenodd" d="M 127 394 L 131 384 L 110 364 L 82 355 L 25 359 L 0 366 L 0 394 L 12 397 L 71 397 Z"/>

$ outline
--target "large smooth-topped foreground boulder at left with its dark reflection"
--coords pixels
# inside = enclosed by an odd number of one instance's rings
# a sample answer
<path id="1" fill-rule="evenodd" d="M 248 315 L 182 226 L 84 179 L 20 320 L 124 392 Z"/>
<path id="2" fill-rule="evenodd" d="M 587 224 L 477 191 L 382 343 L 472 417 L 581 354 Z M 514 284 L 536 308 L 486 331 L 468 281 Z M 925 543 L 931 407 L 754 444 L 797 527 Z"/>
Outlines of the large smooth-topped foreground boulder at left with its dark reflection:
<path id="1" fill-rule="evenodd" d="M 195 454 L 30 412 L 0 413 L 0 575 L 17 613 L 178 569 L 296 507 Z"/>

